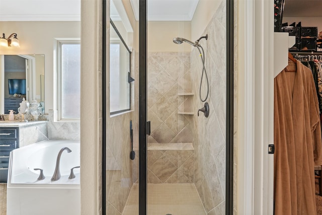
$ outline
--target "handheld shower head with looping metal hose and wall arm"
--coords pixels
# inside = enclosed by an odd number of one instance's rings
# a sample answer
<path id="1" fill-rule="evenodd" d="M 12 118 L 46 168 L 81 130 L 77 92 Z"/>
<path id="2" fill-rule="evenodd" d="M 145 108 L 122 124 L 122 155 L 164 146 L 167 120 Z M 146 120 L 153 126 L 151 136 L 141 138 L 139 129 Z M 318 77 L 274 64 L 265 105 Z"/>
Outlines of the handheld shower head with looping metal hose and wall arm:
<path id="1" fill-rule="evenodd" d="M 198 48 L 198 51 L 200 53 L 200 57 L 201 57 L 201 60 L 202 60 L 202 75 L 201 75 L 200 86 L 199 86 L 199 98 L 200 98 L 200 101 L 202 101 L 202 102 L 206 101 L 207 98 L 208 98 L 208 95 L 209 95 L 209 81 L 208 81 L 207 71 L 206 71 L 206 67 L 205 67 L 205 52 L 204 52 L 202 46 L 199 44 L 199 41 L 201 39 L 203 39 L 203 38 L 205 38 L 207 40 L 208 39 L 208 34 L 206 34 L 206 36 L 200 37 L 195 42 L 192 42 L 192 41 L 187 40 L 187 39 L 182 38 L 182 37 L 175 37 L 175 38 L 173 38 L 173 42 L 176 43 L 176 44 L 181 44 L 183 42 L 186 42 L 186 43 L 189 43 L 190 45 Z M 202 54 L 201 54 L 200 48 L 202 50 Z M 206 87 L 207 87 L 207 94 L 206 94 L 206 98 L 205 99 L 202 99 L 201 98 L 201 85 L 202 85 L 202 79 L 203 79 L 203 75 L 204 74 L 205 74 L 206 81 L 207 81 L 206 82 L 206 84 L 207 84 L 206 85 Z"/>

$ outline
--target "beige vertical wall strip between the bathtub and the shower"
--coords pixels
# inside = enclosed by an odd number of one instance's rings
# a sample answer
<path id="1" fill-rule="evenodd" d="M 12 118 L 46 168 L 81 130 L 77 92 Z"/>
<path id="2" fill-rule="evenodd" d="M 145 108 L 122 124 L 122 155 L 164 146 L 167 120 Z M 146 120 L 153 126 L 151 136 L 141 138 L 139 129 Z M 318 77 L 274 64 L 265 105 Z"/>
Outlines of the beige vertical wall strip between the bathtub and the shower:
<path id="1" fill-rule="evenodd" d="M 98 215 L 103 204 L 102 1 L 82 0 L 81 10 L 81 95 L 87 98 L 81 100 L 81 121 L 86 122 L 81 123 L 81 166 L 85 173 L 81 174 L 81 211 L 83 215 Z"/>

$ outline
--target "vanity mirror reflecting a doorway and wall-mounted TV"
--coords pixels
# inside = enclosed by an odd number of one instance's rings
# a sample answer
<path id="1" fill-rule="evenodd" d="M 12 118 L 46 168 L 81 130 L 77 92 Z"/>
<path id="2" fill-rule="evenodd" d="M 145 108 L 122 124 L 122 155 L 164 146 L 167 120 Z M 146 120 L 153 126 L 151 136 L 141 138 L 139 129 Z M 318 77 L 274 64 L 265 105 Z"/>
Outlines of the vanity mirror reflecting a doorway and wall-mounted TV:
<path id="1" fill-rule="evenodd" d="M 45 55 L 0 55 L 0 59 L 0 113 L 18 113 L 23 98 L 30 103 L 34 98 L 39 103 L 45 101 Z"/>

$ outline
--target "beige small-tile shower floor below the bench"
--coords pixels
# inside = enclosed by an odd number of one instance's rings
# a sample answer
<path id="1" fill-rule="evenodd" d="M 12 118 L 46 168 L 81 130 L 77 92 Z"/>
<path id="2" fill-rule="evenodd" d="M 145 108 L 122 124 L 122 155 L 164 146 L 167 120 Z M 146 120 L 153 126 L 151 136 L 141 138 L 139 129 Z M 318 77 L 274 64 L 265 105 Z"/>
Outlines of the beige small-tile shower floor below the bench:
<path id="1" fill-rule="evenodd" d="M 138 184 L 133 184 L 123 215 L 138 215 Z M 148 184 L 147 214 L 205 215 L 194 184 Z"/>

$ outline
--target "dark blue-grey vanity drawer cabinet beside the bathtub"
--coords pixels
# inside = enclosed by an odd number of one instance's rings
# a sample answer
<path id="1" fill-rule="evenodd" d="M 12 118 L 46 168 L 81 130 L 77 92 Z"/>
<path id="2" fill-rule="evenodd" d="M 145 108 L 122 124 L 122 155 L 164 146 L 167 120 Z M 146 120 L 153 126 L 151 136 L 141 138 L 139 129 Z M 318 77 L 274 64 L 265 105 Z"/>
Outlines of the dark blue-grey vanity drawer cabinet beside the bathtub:
<path id="1" fill-rule="evenodd" d="M 0 127 L 0 183 L 7 183 L 10 152 L 19 148 L 19 127 Z"/>

